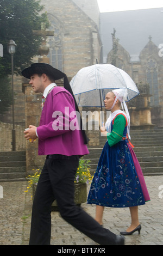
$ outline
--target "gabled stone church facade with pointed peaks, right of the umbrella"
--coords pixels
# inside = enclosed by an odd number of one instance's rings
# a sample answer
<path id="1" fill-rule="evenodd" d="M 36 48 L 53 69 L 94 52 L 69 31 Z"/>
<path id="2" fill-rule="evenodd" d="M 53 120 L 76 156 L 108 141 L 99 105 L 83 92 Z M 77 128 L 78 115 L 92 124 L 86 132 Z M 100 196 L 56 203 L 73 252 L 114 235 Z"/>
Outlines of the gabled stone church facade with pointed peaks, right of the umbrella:
<path id="1" fill-rule="evenodd" d="M 163 58 L 159 56 L 158 46 L 149 36 L 149 41 L 139 56 L 130 56 L 115 35 L 112 36 L 113 47 L 108 53 L 107 63 L 114 63 L 117 68 L 126 71 L 139 87 L 140 93 L 149 95 L 147 105 L 151 107 L 152 124 L 163 127 Z M 145 87 L 148 87 L 146 92 Z M 139 97 L 135 98 L 137 99 Z M 132 102 L 131 105 L 129 103 L 129 107 L 132 105 Z"/>

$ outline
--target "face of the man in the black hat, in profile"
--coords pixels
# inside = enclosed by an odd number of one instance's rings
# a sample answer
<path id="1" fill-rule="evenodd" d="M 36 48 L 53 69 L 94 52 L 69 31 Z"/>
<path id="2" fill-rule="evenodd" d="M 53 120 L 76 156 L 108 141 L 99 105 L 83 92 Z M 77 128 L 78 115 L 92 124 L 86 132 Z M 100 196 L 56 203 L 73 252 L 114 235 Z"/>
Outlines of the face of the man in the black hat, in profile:
<path id="1" fill-rule="evenodd" d="M 32 86 L 35 93 L 43 93 L 44 86 L 43 86 L 43 77 L 34 74 L 30 77 L 29 84 Z"/>

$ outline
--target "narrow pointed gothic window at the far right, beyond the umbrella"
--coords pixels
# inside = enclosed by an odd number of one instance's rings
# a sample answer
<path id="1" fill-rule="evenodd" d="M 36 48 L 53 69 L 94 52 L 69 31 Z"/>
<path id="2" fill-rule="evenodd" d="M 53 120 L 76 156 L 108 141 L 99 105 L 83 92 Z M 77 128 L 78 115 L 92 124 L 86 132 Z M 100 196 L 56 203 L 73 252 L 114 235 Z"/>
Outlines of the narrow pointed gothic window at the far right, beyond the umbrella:
<path id="1" fill-rule="evenodd" d="M 150 87 L 151 106 L 159 105 L 159 86 L 158 86 L 158 71 L 156 62 L 152 59 L 147 63 L 147 82 Z"/>

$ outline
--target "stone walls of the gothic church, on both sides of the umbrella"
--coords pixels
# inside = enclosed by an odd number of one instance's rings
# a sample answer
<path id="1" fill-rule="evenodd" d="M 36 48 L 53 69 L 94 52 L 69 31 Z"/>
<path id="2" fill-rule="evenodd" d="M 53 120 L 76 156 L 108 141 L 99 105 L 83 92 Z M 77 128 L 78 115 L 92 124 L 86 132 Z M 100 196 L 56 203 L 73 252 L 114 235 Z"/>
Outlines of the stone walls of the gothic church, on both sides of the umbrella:
<path id="1" fill-rule="evenodd" d="M 54 31 L 54 36 L 46 40 L 49 46 L 48 57 L 54 68 L 73 77 L 84 66 L 96 64 L 96 59 L 102 63 L 97 0 L 42 0 L 41 3 L 51 23 L 48 30 Z M 130 56 L 118 41 L 116 45 L 117 52 L 111 50 L 107 62 L 111 63 L 116 56 L 116 66 L 126 71 L 135 83 L 150 84 L 152 123 L 158 127 L 163 126 L 163 68 L 158 47 L 149 38 L 139 56 Z M 38 61 L 38 57 L 34 58 L 34 62 Z M 25 126 L 27 113 L 21 76 L 14 77 L 14 90 L 15 122 Z M 11 109 L 3 117 L 0 116 L 0 120 L 12 123 Z"/>

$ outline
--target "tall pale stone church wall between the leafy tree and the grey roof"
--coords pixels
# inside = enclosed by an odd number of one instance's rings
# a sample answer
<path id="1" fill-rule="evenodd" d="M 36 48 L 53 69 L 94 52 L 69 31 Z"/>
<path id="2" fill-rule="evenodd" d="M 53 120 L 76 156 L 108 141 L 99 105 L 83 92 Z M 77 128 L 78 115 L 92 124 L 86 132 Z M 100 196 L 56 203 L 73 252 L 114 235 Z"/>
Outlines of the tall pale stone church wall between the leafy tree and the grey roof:
<path id="1" fill-rule="evenodd" d="M 95 21 L 71 0 L 42 0 L 42 4 L 51 22 L 57 20 L 60 24 L 62 71 L 67 76 L 73 77 L 85 66 L 96 64 L 96 59 L 100 61 L 102 44 Z M 94 9 L 92 5 L 92 13 Z"/>

